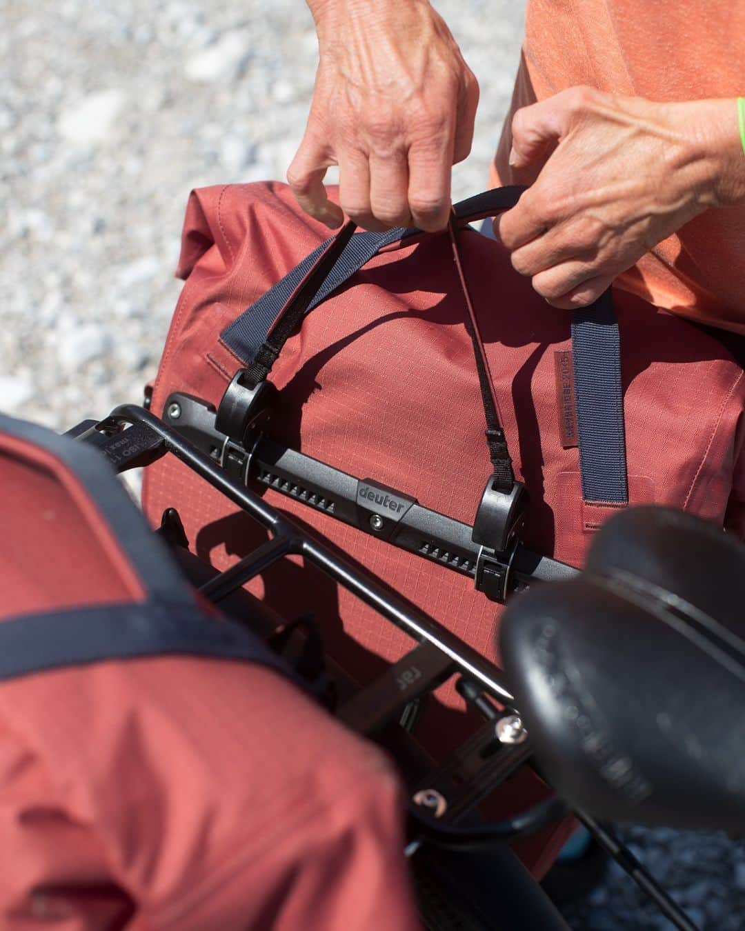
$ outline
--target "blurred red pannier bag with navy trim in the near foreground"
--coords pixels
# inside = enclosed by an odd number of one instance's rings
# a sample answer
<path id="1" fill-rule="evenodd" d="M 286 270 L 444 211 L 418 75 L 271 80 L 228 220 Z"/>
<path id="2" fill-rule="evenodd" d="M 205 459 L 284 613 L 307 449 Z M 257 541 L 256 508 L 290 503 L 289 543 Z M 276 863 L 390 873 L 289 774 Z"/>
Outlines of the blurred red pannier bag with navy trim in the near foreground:
<path id="1" fill-rule="evenodd" d="M 400 786 L 196 599 L 99 452 L 0 417 L 0 926 L 418 927 Z"/>

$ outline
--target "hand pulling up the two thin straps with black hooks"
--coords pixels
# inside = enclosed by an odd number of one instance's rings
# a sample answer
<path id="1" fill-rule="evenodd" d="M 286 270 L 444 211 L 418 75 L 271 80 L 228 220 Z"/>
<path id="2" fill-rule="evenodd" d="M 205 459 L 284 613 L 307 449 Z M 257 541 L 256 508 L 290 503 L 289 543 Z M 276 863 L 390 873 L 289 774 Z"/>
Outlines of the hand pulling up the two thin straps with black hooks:
<path id="1" fill-rule="evenodd" d="M 305 137 L 287 172 L 328 226 L 448 222 L 452 166 L 467 157 L 479 85 L 427 0 L 308 0 L 320 61 Z M 323 185 L 339 166 L 341 209 Z"/>

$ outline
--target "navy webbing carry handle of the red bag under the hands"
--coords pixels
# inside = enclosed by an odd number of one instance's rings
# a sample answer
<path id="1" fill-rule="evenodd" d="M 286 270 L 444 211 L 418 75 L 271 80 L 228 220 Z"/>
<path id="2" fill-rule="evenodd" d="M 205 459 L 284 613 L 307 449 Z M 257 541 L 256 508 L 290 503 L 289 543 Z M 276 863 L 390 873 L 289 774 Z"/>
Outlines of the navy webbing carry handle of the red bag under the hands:
<path id="1" fill-rule="evenodd" d="M 510 185 L 461 201 L 454 206 L 456 223 L 451 230 L 514 207 L 524 190 Z M 408 246 L 430 235 L 415 227 L 356 234 L 355 229 L 354 223 L 346 223 L 221 333 L 221 341 L 248 366 L 243 385 L 252 390 L 264 384 L 282 346 L 305 314 L 380 250 L 396 243 Z M 610 289 L 594 304 L 573 313 L 572 348 L 582 496 L 587 502 L 626 505 L 620 343 Z"/>

